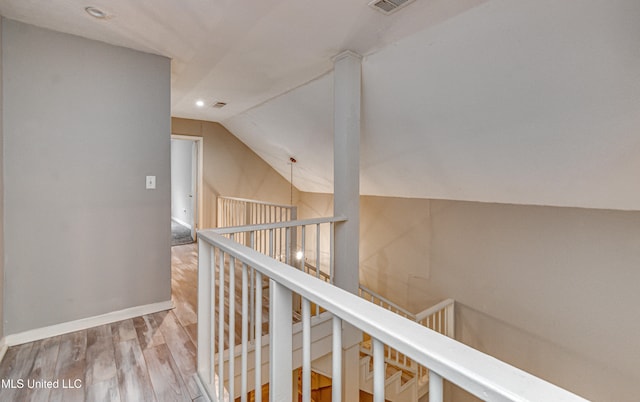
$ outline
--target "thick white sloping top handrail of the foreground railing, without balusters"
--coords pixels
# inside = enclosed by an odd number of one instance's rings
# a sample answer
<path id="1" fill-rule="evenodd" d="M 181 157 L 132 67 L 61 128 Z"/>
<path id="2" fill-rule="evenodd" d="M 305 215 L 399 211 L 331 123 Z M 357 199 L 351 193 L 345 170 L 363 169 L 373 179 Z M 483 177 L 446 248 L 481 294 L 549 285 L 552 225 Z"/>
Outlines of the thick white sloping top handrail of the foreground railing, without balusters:
<path id="1" fill-rule="evenodd" d="M 317 280 L 214 231 L 200 232 L 200 241 L 212 247 L 211 254 L 214 249 L 217 249 L 266 275 L 275 286 L 272 291 L 274 296 L 282 293 L 284 299 L 290 300 L 290 292 L 299 294 L 311 303 L 331 312 L 334 317 L 359 328 L 370 334 L 373 339 L 427 367 L 433 378 L 433 384 L 430 382 L 430 386 L 434 389 L 437 389 L 440 383 L 437 380 L 444 378 L 483 400 L 585 401 L 560 387 L 429 330 L 336 286 Z M 202 246 L 205 247 L 204 244 Z M 270 303 L 276 302 L 273 298 L 270 300 Z M 277 315 L 276 312 L 273 314 Z M 278 338 L 272 338 L 271 347 L 276 347 L 274 342 L 280 341 Z M 290 340 L 283 340 L 283 342 L 278 345 L 278 350 L 282 351 L 283 347 L 286 348 L 287 344 L 291 343 Z M 286 358 L 284 359 L 286 362 Z M 202 362 L 199 361 L 199 369 L 203 367 L 201 364 Z M 272 367 L 272 373 L 274 373 L 273 370 L 278 370 L 278 367 Z M 204 370 L 203 374 L 207 372 Z M 274 390 L 285 391 L 288 387 L 290 392 L 291 381 L 290 373 L 274 376 L 271 387 Z M 434 391 L 434 394 L 436 393 Z"/>

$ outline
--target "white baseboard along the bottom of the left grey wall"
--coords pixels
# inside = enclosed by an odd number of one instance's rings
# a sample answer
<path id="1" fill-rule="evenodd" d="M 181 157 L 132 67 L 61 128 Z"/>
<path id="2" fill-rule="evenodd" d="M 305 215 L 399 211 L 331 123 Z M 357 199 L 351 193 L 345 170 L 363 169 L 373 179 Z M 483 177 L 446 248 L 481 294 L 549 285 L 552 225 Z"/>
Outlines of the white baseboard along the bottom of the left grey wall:
<path id="1" fill-rule="evenodd" d="M 124 310 L 113 311 L 93 317 L 81 318 L 75 321 L 63 322 L 61 324 L 55 324 L 48 327 L 31 329 L 29 331 L 7 335 L 3 338 L 3 340 L 4 344 L 7 347 L 22 345 L 23 343 L 39 341 L 41 339 L 51 338 L 53 336 L 81 331 L 83 329 L 93 328 L 100 325 L 111 324 L 112 322 L 127 320 L 129 318 L 139 317 L 141 315 L 170 310 L 174 307 L 175 306 L 173 305 L 173 301 L 171 300 L 146 304 L 143 306 L 130 307 Z M 2 353 L 2 350 L 0 350 L 0 353 Z"/>

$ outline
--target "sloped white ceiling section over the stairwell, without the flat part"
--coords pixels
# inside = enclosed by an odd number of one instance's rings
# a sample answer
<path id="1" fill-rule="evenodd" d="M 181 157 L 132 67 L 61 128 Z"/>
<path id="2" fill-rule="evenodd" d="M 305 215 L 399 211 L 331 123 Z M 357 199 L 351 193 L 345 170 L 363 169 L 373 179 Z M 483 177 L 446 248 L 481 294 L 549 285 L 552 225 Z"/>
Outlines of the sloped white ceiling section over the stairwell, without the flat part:
<path id="1" fill-rule="evenodd" d="M 640 209 L 638 21 L 634 1 L 491 1 L 366 56 L 361 192 Z M 223 124 L 331 192 L 332 96 L 328 74 Z"/>

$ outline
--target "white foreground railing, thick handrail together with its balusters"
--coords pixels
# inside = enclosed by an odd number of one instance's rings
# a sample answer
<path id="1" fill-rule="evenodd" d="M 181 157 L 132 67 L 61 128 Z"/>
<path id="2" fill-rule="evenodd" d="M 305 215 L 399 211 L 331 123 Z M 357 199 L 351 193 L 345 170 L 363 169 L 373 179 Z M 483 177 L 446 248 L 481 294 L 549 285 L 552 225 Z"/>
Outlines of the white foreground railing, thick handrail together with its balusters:
<path id="1" fill-rule="evenodd" d="M 335 222 L 335 221 L 334 221 Z M 269 280 L 269 392 L 270 401 L 292 400 L 292 326 L 293 295 L 302 304 L 302 395 L 310 398 L 311 373 L 311 305 L 320 306 L 333 315 L 332 377 L 333 401 L 341 400 L 339 381 L 342 378 L 342 327 L 344 323 L 369 334 L 372 339 L 374 360 L 374 401 L 384 401 L 384 350 L 385 346 L 397 350 L 417 364 L 429 370 L 429 400 L 442 401 L 443 379 L 457 384 L 480 399 L 490 401 L 584 401 L 584 399 L 545 382 L 522 370 L 439 334 L 424 325 L 401 317 L 357 295 L 346 292 L 331 283 L 314 278 L 301 269 L 284 264 L 253 248 L 225 237 L 216 230 L 199 232 L 199 292 L 198 292 L 198 377 L 209 397 L 223 400 L 224 395 L 234 395 L 232 378 L 236 370 L 241 373 L 241 401 L 247 400 L 248 372 L 247 350 L 249 346 L 249 277 L 254 273 L 254 320 L 256 334 L 261 332 L 263 277 Z M 238 271 L 241 277 L 241 349 L 240 367 L 229 359 L 225 370 L 223 353 L 215 355 L 214 342 L 224 344 L 225 325 L 229 333 L 227 342 L 234 345 L 235 303 L 229 303 L 228 321 L 225 311 L 225 295 L 236 300 L 233 278 Z M 215 274 L 219 275 L 216 286 Z M 231 274 L 229 274 L 231 273 Z M 228 283 L 227 278 L 228 276 Z M 227 286 L 228 285 L 228 286 Z M 216 289 L 217 288 L 217 289 Z M 260 293 L 260 294 L 258 294 Z M 216 304 L 218 304 L 216 314 Z M 217 335 L 216 335 L 217 333 Z M 260 336 L 255 336 L 261 339 Z M 223 350 L 219 346 L 220 350 Z M 262 384 L 262 348 L 255 348 L 255 384 Z M 216 359 L 217 358 L 217 359 Z M 217 368 L 216 368 L 216 360 Z M 260 387 L 256 387 L 260 389 Z M 228 393 L 227 393 L 228 392 Z M 260 392 L 255 400 L 261 400 Z"/>

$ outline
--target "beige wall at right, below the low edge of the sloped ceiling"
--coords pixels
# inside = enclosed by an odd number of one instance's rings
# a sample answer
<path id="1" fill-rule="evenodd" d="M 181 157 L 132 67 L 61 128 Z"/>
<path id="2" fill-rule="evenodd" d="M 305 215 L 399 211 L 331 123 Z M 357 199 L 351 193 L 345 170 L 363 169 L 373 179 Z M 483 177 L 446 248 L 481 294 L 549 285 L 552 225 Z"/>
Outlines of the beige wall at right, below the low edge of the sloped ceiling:
<path id="1" fill-rule="evenodd" d="M 456 299 L 460 340 L 588 399 L 637 400 L 640 213 L 432 200 L 431 223 L 424 291 Z"/>

